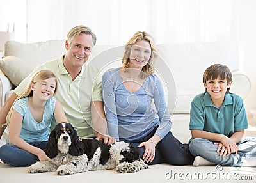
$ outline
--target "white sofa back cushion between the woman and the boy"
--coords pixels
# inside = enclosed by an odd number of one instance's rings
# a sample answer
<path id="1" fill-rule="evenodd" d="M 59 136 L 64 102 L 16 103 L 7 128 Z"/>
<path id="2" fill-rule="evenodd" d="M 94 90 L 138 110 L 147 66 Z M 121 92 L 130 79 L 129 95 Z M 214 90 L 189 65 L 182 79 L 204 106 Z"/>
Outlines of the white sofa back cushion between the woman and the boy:
<path id="1" fill-rule="evenodd" d="M 202 75 L 214 63 L 240 70 L 236 42 L 159 44 L 156 72 L 163 76 L 170 113 L 189 113 L 191 100 L 205 91 Z M 174 102 L 174 104 L 173 104 Z M 173 107 L 173 105 L 175 105 Z"/>

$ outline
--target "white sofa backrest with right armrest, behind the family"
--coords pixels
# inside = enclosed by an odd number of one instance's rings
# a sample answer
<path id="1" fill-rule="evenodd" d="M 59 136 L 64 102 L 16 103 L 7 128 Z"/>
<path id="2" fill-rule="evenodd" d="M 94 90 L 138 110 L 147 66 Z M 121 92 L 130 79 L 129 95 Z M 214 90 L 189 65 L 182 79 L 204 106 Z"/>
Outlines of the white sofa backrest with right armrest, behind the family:
<path id="1" fill-rule="evenodd" d="M 191 100 L 204 92 L 202 74 L 214 63 L 227 65 L 234 74 L 230 92 L 246 97 L 250 80 L 241 71 L 235 42 L 208 42 L 191 44 L 159 44 L 159 57 L 154 63 L 156 74 L 163 81 L 170 113 L 189 113 Z M 88 62 L 103 74 L 108 68 L 122 65 L 124 46 L 96 45 Z M 9 41 L 4 56 L 16 56 L 36 67 L 45 61 L 65 54 L 64 40 L 50 40 L 32 44 Z"/>

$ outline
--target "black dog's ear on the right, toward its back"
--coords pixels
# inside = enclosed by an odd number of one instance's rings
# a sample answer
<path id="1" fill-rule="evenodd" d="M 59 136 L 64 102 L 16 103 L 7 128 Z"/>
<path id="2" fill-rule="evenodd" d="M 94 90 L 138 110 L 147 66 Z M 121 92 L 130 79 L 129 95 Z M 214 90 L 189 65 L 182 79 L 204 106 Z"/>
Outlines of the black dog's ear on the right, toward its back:
<path id="1" fill-rule="evenodd" d="M 73 128 L 74 134 L 72 134 L 71 145 L 69 147 L 68 153 L 70 155 L 78 156 L 84 154 L 84 145 L 79 140 L 76 130 Z"/>

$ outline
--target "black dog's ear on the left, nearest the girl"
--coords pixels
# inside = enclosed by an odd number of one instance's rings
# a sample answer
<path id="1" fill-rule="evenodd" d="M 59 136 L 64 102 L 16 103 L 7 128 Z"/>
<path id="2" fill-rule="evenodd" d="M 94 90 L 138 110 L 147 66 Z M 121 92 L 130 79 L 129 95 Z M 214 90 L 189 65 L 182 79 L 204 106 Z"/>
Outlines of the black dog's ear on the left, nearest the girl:
<path id="1" fill-rule="evenodd" d="M 45 146 L 45 154 L 49 158 L 56 157 L 58 155 L 57 139 L 55 129 L 51 131 L 47 144 Z"/>

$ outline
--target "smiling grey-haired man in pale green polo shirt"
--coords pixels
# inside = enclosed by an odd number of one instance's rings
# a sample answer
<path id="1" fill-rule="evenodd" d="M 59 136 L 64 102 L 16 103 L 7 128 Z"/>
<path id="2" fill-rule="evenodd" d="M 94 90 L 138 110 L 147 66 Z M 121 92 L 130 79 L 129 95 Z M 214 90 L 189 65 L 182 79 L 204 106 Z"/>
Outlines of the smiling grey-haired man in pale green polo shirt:
<path id="1" fill-rule="evenodd" d="M 52 70 L 58 79 L 56 99 L 63 106 L 68 122 L 76 128 L 81 138 L 96 136 L 106 144 L 115 143 L 115 139 L 106 135 L 106 116 L 102 102 L 102 83 L 97 77 L 96 68 L 86 64 L 96 43 L 96 36 L 86 26 L 76 26 L 68 32 L 65 48 L 67 53 L 61 58 L 49 61 L 29 74 L 15 88 L 14 93 L 6 101 L 0 111 L 0 137 L 4 132 L 2 125 L 13 102 L 17 98 L 30 77 L 38 70 Z M 82 87 L 83 86 L 83 87 Z"/>

